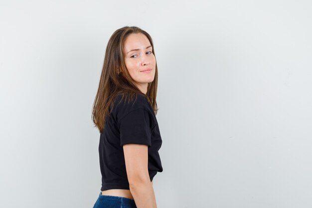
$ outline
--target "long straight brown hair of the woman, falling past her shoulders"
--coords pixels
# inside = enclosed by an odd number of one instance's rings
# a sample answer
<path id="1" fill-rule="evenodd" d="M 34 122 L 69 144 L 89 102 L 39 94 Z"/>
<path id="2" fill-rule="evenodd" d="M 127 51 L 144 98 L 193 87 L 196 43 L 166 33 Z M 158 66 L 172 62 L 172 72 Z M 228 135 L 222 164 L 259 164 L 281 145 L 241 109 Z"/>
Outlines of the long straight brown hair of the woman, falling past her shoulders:
<path id="1" fill-rule="evenodd" d="M 152 52 L 155 55 L 152 37 L 149 33 L 136 26 L 125 26 L 117 29 L 110 37 L 106 46 L 104 63 L 99 83 L 98 92 L 95 96 L 92 110 L 92 120 L 100 132 L 103 132 L 107 116 L 111 113 L 114 100 L 117 95 L 122 95 L 122 100 L 132 101 L 137 94 L 146 96 L 151 103 L 155 115 L 157 114 L 157 62 L 155 67 L 154 80 L 148 83 L 146 94 L 136 86 L 130 76 L 124 61 L 123 46 L 124 41 L 131 33 L 142 33 L 150 41 Z"/>

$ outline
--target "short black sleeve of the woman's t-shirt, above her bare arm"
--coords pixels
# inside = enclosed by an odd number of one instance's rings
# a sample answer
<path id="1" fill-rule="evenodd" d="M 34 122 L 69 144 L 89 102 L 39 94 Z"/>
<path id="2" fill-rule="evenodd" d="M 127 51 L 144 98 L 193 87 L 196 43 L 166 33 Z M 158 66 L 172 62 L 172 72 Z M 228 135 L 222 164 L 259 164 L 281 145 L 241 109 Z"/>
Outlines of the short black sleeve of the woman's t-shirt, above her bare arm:
<path id="1" fill-rule="evenodd" d="M 130 111 L 119 121 L 120 146 L 124 144 L 151 144 L 149 112 L 144 109 Z"/>

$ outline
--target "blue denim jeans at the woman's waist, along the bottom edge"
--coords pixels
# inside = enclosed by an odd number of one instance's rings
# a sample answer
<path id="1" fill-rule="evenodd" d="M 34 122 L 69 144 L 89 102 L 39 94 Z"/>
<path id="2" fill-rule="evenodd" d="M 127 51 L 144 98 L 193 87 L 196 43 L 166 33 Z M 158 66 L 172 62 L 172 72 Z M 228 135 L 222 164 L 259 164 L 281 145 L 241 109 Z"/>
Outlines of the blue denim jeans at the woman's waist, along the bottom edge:
<path id="1" fill-rule="evenodd" d="M 132 199 L 102 195 L 102 192 L 100 192 L 99 198 L 93 208 L 137 208 L 137 206 Z"/>

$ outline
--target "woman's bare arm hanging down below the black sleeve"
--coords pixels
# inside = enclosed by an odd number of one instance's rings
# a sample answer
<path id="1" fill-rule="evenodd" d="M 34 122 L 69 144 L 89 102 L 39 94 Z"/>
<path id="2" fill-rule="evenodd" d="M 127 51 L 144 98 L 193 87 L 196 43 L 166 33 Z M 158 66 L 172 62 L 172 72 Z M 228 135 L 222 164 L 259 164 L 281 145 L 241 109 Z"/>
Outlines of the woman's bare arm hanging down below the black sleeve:
<path id="1" fill-rule="evenodd" d="M 155 193 L 149 176 L 148 146 L 123 145 L 130 192 L 137 208 L 157 208 Z"/>

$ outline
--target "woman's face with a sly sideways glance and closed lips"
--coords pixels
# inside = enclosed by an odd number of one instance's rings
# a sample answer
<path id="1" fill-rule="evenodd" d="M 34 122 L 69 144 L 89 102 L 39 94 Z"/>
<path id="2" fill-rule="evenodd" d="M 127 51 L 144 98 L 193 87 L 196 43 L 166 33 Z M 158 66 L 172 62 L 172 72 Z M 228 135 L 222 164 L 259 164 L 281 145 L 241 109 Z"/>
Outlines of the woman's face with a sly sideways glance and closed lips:
<path id="1" fill-rule="evenodd" d="M 142 33 L 131 33 L 125 39 L 123 50 L 130 76 L 146 94 L 148 83 L 154 80 L 156 70 L 156 58 L 149 39 Z"/>

